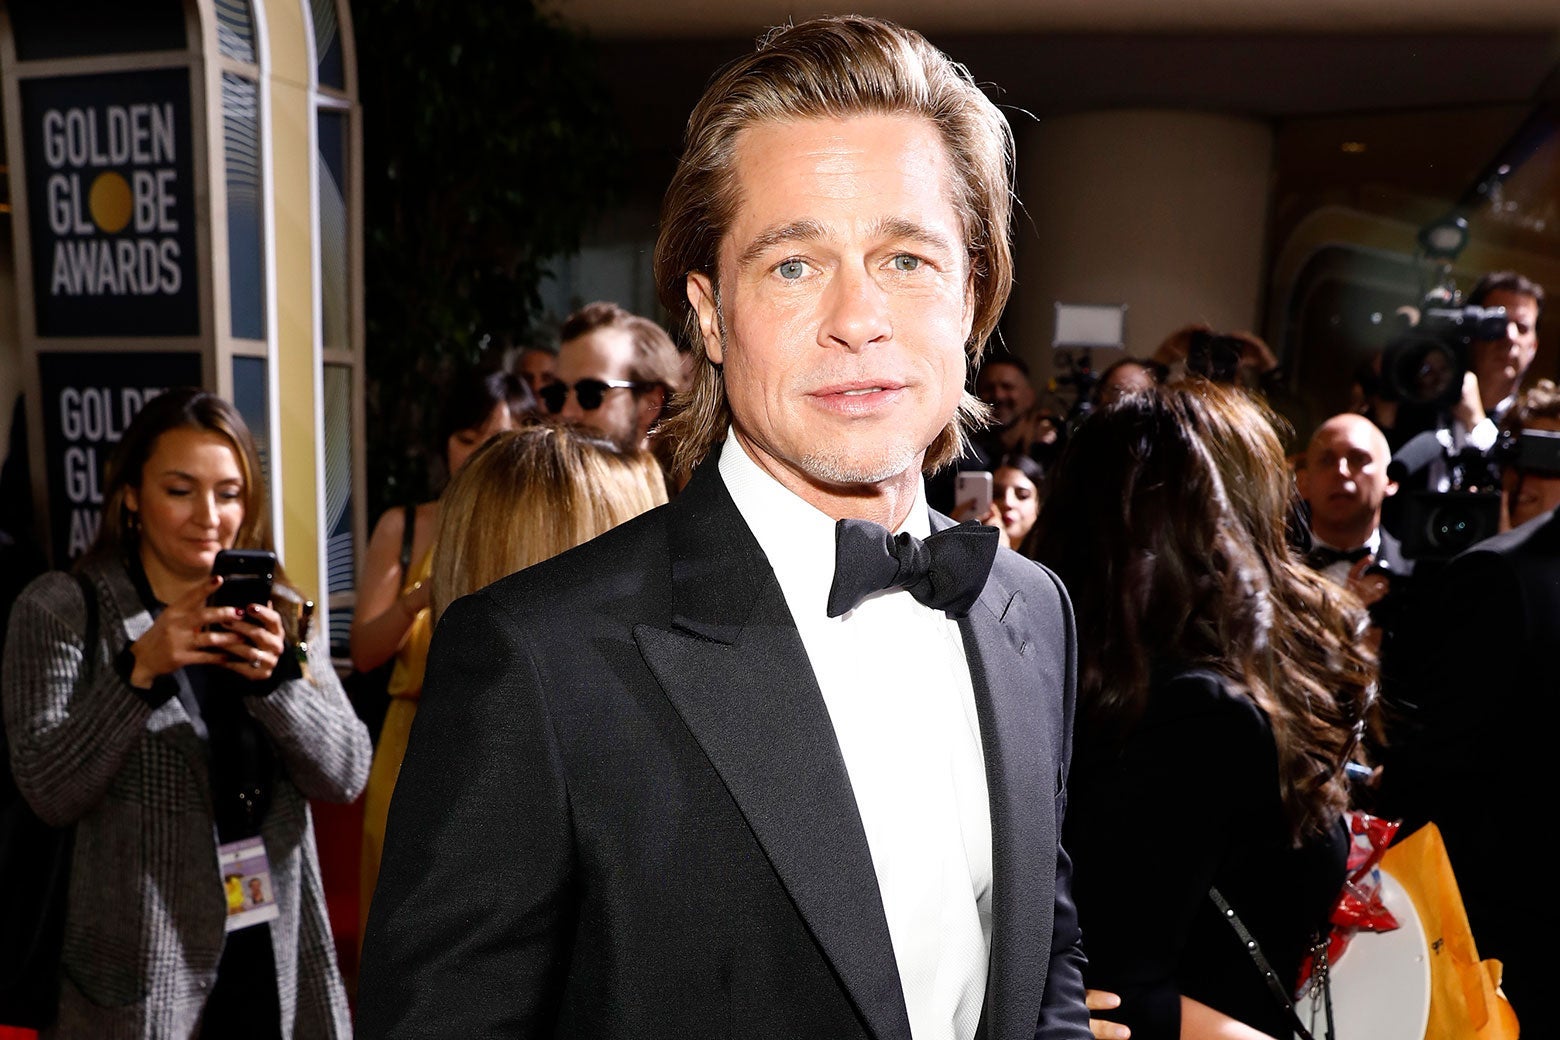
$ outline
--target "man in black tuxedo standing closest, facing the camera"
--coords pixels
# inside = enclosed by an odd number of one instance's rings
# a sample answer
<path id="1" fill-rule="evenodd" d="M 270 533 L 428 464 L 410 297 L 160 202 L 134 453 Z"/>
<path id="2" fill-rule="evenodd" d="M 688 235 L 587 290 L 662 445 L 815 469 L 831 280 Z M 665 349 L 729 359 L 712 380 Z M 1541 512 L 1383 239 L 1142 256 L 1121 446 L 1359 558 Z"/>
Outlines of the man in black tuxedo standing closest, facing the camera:
<path id="1" fill-rule="evenodd" d="M 686 140 L 655 276 L 697 469 L 445 614 L 359 1034 L 1083 1040 L 1070 607 L 922 486 L 1011 285 L 1006 120 L 841 17 Z"/>

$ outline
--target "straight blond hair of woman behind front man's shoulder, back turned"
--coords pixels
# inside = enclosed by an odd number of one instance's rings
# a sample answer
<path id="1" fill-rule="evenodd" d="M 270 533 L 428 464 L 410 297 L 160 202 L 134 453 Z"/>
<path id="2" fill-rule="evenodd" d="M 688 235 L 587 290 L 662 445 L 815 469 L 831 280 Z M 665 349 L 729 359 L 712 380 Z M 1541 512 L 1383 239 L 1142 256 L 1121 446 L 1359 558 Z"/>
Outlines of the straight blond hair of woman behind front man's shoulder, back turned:
<path id="1" fill-rule="evenodd" d="M 462 596 L 665 502 L 649 452 L 552 423 L 491 437 L 440 497 L 434 621 Z"/>

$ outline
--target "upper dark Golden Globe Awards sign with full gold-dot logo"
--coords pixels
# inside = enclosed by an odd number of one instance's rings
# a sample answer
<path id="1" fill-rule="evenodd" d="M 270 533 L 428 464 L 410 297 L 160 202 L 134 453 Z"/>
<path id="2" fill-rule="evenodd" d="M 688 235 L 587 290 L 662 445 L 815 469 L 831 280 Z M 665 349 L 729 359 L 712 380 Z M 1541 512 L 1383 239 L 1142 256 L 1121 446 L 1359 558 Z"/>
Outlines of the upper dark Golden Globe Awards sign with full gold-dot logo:
<path id="1" fill-rule="evenodd" d="M 20 89 L 37 335 L 198 335 L 189 70 Z"/>

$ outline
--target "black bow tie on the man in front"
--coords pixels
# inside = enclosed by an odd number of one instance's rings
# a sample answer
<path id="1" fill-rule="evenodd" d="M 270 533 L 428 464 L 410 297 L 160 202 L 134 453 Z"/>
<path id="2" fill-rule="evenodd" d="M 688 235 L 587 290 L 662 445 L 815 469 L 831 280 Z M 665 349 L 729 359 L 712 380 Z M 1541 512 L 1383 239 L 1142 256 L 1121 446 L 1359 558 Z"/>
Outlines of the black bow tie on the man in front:
<path id="1" fill-rule="evenodd" d="M 842 519 L 835 525 L 835 583 L 828 616 L 855 610 L 874 593 L 906 589 L 917 602 L 964 617 L 986 588 L 997 558 L 998 532 L 967 522 L 930 535 L 889 535 L 870 521 Z"/>

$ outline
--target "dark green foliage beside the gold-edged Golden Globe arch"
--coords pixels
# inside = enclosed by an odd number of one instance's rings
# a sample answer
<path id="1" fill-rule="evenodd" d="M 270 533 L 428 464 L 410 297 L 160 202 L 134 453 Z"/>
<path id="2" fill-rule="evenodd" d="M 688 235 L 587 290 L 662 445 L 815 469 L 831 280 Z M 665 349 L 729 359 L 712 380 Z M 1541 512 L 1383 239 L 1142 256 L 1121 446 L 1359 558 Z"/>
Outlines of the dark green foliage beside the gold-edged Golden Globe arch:
<path id="1" fill-rule="evenodd" d="M 431 494 L 451 371 L 524 341 L 627 154 L 588 41 L 521 0 L 353 0 L 370 522 Z"/>

